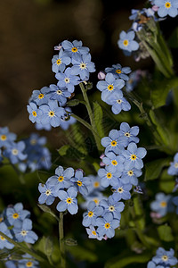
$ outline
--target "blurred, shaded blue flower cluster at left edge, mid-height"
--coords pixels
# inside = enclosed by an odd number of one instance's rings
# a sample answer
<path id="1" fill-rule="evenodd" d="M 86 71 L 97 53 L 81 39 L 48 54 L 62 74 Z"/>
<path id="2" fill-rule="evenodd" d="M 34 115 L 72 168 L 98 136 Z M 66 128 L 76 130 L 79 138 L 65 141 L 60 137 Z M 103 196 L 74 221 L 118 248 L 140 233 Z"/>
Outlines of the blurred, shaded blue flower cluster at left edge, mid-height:
<path id="1" fill-rule="evenodd" d="M 0 129 L 0 161 L 3 161 L 3 156 L 8 158 L 12 164 L 18 164 L 21 172 L 50 169 L 51 154 L 44 147 L 46 138 L 35 133 L 18 142 L 15 141 L 16 138 L 17 135 L 7 127 Z"/>

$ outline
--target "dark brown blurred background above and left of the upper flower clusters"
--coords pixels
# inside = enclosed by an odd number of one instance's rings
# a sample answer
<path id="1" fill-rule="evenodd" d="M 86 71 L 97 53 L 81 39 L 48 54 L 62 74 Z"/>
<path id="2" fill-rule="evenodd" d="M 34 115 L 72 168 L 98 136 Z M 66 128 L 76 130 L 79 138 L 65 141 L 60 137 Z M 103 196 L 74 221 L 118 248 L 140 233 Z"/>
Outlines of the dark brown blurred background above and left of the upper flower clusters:
<path id="1" fill-rule="evenodd" d="M 132 8 L 144 1 L 5 0 L 0 3 L 0 126 L 18 135 L 35 130 L 26 105 L 34 89 L 56 83 L 53 46 L 64 39 L 90 47 L 97 71 L 113 63 L 133 70 L 148 68 L 150 59 L 135 63 L 117 47 L 119 32 L 131 26 Z M 97 81 L 97 74 L 93 74 Z"/>

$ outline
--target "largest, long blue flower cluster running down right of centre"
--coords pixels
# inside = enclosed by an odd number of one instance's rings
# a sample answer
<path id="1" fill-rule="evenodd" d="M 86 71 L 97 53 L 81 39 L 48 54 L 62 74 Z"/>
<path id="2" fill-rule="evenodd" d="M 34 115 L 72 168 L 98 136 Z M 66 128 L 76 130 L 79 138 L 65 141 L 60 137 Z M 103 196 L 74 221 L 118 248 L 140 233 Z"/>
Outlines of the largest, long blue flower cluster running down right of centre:
<path id="1" fill-rule="evenodd" d="M 91 239 L 107 239 L 115 235 L 119 227 L 124 203 L 121 199 L 131 198 L 130 190 L 138 185 L 138 177 L 142 175 L 142 158 L 146 155 L 145 148 L 137 148 L 138 127 L 132 127 L 123 122 L 120 130 L 111 130 L 109 137 L 101 139 L 105 153 L 101 156 L 101 168 L 98 175 L 102 188 L 112 187 L 113 194 L 101 199 L 99 205 L 93 201 L 87 205 L 83 225 Z M 127 149 L 125 149 L 127 147 Z"/>

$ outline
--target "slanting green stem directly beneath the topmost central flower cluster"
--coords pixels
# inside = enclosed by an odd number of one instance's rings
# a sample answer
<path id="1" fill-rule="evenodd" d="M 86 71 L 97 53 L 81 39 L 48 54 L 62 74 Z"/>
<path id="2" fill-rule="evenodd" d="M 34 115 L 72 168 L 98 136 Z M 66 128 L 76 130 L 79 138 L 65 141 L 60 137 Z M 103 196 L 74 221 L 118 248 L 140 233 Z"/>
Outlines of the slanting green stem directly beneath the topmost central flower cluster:
<path id="1" fill-rule="evenodd" d="M 101 152 L 102 151 L 101 137 L 97 133 L 95 122 L 93 120 L 93 111 L 92 111 L 92 108 L 91 108 L 91 105 L 90 105 L 90 102 L 89 102 L 89 99 L 88 99 L 88 96 L 87 96 L 87 93 L 86 93 L 87 90 L 85 89 L 83 83 L 80 83 L 79 86 L 80 86 L 81 91 L 82 91 L 82 94 L 84 96 L 85 107 L 86 107 L 86 110 L 88 112 L 88 115 L 89 115 L 89 118 L 90 118 L 90 122 L 91 122 L 91 125 L 92 125 L 92 128 L 93 128 L 93 137 L 95 139 L 95 142 L 96 142 L 96 146 L 98 148 L 98 151 Z"/>

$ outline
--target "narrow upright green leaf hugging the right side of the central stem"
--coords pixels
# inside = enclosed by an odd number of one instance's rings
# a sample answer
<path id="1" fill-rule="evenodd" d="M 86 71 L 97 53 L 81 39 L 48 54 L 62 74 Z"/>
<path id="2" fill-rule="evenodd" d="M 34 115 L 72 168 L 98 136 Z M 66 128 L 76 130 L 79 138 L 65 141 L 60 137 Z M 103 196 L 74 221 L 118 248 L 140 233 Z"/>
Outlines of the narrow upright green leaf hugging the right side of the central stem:
<path id="1" fill-rule="evenodd" d="M 103 120 L 103 112 L 101 105 L 99 105 L 97 102 L 93 102 L 93 120 L 96 126 L 96 130 L 98 131 L 98 134 L 101 138 L 103 138 L 104 130 L 102 126 L 102 120 Z"/>

